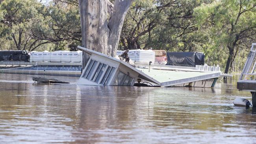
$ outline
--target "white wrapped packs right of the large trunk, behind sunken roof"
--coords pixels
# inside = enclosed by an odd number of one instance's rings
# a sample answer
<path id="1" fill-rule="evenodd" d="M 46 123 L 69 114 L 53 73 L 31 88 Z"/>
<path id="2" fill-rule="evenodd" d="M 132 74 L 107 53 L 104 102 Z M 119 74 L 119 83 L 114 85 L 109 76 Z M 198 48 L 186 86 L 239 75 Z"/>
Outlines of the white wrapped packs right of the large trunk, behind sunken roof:
<path id="1" fill-rule="evenodd" d="M 121 55 L 124 51 L 118 50 L 117 55 Z M 155 62 L 155 52 L 152 50 L 129 50 L 128 56 L 135 63 L 148 64 L 150 61 Z"/>

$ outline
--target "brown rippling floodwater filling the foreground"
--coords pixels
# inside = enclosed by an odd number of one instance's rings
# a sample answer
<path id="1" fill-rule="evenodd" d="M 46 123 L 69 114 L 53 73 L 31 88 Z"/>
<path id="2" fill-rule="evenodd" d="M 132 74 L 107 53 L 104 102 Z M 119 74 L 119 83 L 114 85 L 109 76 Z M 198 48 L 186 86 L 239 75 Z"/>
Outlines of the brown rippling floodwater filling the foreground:
<path id="1" fill-rule="evenodd" d="M 252 144 L 256 110 L 236 82 L 214 89 L 98 87 L 33 83 L 30 75 L 0 74 L 0 144 L 196 143 Z"/>

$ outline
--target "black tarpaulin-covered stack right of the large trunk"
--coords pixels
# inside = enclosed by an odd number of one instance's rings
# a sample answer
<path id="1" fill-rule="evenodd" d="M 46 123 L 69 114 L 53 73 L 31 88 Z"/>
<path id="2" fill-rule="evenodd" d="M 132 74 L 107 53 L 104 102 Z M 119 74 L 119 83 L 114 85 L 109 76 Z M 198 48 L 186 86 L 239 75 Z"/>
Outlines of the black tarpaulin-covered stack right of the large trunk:
<path id="1" fill-rule="evenodd" d="M 204 53 L 202 52 L 167 52 L 167 64 L 173 66 L 204 65 Z"/>

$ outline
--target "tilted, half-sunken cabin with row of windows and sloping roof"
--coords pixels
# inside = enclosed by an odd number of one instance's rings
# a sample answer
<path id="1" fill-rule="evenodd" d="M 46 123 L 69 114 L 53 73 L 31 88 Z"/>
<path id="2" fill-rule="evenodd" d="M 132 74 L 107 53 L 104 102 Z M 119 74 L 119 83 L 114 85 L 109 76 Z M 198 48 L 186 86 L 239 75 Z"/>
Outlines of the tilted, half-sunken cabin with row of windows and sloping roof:
<path id="1" fill-rule="evenodd" d="M 78 48 L 91 55 L 78 84 L 132 86 L 137 79 L 144 79 L 157 85 L 161 84 L 156 79 L 120 59 L 81 46 L 78 46 Z"/>

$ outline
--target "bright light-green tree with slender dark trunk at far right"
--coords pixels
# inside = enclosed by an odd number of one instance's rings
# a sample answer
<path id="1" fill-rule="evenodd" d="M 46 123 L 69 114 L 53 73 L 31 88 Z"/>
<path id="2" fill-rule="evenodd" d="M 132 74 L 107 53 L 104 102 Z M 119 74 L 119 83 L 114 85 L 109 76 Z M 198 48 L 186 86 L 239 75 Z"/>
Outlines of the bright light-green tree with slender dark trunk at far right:
<path id="1" fill-rule="evenodd" d="M 210 29 L 214 47 L 228 50 L 225 73 L 228 73 L 240 48 L 250 47 L 256 35 L 256 0 L 221 0 L 202 4 L 195 17 L 202 31 Z"/>

